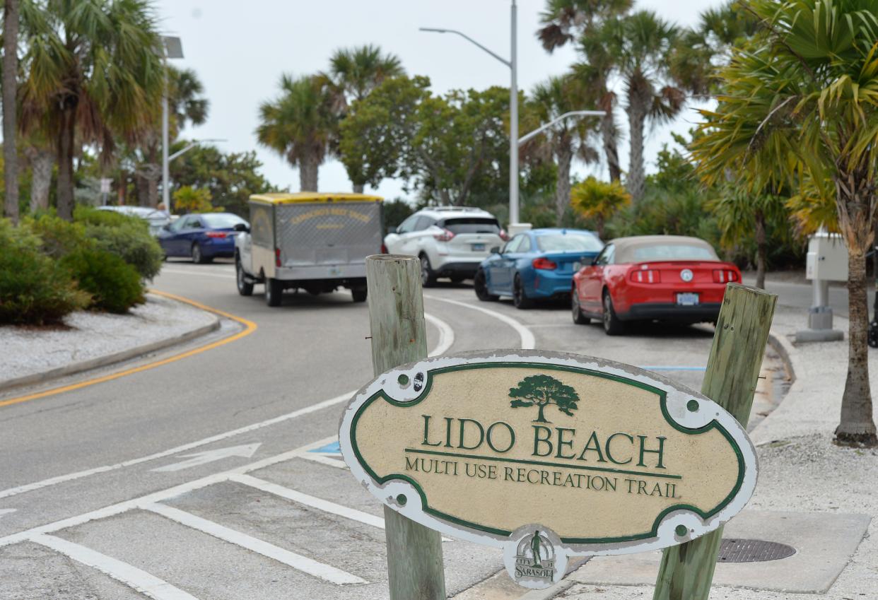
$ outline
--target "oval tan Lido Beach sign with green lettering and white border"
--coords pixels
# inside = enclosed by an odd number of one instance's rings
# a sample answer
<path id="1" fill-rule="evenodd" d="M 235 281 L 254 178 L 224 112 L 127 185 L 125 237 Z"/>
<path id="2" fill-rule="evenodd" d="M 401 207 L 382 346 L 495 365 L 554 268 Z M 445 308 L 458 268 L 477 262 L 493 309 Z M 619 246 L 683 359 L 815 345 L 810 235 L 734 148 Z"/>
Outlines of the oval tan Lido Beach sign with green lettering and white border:
<path id="1" fill-rule="evenodd" d="M 570 556 L 681 544 L 756 485 L 745 430 L 691 389 L 621 363 L 497 350 L 394 368 L 342 416 L 342 455 L 384 504 L 504 550 L 544 588 Z"/>

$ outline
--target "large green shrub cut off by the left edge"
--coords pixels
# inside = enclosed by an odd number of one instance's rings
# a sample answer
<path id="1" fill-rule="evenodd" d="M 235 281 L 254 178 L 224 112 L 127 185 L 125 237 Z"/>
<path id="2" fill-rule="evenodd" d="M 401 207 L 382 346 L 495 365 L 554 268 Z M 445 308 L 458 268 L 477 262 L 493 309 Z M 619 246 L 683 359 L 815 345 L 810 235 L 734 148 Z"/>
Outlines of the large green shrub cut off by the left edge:
<path id="1" fill-rule="evenodd" d="M 40 238 L 0 219 L 0 324 L 57 323 L 90 303 L 67 269 L 40 251 Z"/>

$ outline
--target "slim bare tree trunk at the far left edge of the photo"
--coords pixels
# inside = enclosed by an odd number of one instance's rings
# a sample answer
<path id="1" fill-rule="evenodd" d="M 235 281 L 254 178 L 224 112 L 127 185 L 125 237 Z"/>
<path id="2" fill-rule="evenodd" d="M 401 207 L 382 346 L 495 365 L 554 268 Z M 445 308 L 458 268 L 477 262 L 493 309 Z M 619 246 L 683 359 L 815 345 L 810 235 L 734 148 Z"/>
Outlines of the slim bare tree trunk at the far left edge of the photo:
<path id="1" fill-rule="evenodd" d="M 6 0 L 4 3 L 3 35 L 4 211 L 13 223 L 18 223 L 18 0 Z"/>

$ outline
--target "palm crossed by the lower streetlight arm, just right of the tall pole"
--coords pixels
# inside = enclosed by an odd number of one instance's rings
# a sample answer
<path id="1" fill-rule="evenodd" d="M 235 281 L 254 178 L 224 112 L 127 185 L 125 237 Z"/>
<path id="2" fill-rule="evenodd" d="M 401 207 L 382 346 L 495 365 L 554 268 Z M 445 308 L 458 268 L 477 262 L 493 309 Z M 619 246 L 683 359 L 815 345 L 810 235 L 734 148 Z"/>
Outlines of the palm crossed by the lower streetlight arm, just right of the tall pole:
<path id="1" fill-rule="evenodd" d="M 576 92 L 577 86 L 572 85 L 571 78 L 550 77 L 539 83 L 531 93 L 529 112 L 543 123 L 558 118 L 568 111 L 575 111 L 582 106 Z M 560 226 L 566 208 L 570 205 L 570 163 L 573 156 L 579 154 L 585 160 L 595 160 L 596 154 L 586 143 L 587 122 L 568 119 L 554 125 L 530 142 L 537 151 L 543 150 L 557 161 L 555 182 L 555 225 Z M 541 143 L 542 142 L 542 143 Z M 529 148 L 525 148 L 527 151 Z"/>

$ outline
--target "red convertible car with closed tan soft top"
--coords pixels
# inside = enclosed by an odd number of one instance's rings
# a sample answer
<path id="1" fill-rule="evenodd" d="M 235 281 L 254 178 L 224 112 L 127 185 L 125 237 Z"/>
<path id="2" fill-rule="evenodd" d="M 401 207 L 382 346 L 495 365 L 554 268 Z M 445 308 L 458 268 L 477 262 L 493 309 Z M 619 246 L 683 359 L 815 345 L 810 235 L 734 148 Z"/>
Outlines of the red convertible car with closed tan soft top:
<path id="1" fill-rule="evenodd" d="M 738 267 L 720 261 L 703 239 L 618 238 L 573 275 L 573 322 L 601 319 L 608 335 L 638 320 L 716 322 L 726 283 L 740 281 Z"/>

